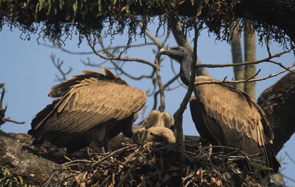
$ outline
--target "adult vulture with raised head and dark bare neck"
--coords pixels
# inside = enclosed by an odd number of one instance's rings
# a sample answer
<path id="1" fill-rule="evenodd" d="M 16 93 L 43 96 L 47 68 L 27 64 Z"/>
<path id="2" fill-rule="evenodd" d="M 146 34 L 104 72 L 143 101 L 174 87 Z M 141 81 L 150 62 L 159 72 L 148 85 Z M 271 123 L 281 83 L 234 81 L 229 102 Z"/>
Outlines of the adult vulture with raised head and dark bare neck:
<path id="1" fill-rule="evenodd" d="M 192 64 L 189 51 L 182 46 L 174 46 L 160 49 L 160 54 L 180 62 L 181 81 L 189 86 Z M 197 76 L 195 83 L 212 80 Z M 262 153 L 254 158 L 278 172 L 280 164 L 271 148 L 273 132 L 265 113 L 250 95 L 227 84 L 202 84 L 194 87 L 189 105 L 203 141 L 213 146 L 237 148 L 248 155 Z"/>

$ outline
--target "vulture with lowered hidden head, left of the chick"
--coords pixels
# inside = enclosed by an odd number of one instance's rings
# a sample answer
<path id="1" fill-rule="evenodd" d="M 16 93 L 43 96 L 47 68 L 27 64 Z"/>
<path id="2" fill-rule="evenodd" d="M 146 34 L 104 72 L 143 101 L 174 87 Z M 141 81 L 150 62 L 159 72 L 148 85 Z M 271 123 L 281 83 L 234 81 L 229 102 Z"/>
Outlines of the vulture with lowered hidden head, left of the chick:
<path id="1" fill-rule="evenodd" d="M 90 146 L 96 153 L 109 150 L 109 140 L 119 133 L 132 138 L 140 128 L 133 124 L 147 95 L 102 67 L 101 73 L 82 71 L 53 86 L 48 96 L 57 98 L 36 114 L 28 134 L 33 145 L 44 141 L 75 152 Z"/>

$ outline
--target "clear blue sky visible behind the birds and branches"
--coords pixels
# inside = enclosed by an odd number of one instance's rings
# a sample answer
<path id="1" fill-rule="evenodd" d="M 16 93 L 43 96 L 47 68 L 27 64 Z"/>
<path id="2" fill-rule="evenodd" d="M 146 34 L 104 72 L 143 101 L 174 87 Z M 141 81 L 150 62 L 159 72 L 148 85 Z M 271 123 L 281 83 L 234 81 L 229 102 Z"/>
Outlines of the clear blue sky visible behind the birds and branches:
<path id="1" fill-rule="evenodd" d="M 155 26 L 151 26 L 150 31 L 152 34 L 155 34 Z M 7 90 L 7 93 L 4 96 L 4 103 L 8 103 L 8 109 L 5 113 L 6 117 L 11 116 L 13 120 L 26 121 L 26 123 L 19 125 L 6 122 L 1 126 L 1 129 L 5 132 L 26 133 L 30 129 L 30 122 L 33 116 L 47 104 L 51 103 L 52 98 L 49 98 L 46 94 L 51 86 L 58 83 L 58 81 L 55 81 L 55 74 L 58 74 L 58 71 L 51 62 L 51 53 L 54 53 L 57 57 L 60 57 L 60 59 L 64 61 L 63 69 L 67 70 L 69 66 L 73 66 L 73 71 L 68 78 L 79 74 L 80 71 L 85 69 L 96 69 L 95 67 L 84 66 L 81 63 L 81 60 L 87 61 L 87 58 L 89 58 L 91 62 L 95 63 L 100 63 L 104 60 L 93 54 L 73 55 L 63 52 L 57 48 L 38 45 L 37 36 L 33 34 L 31 35 L 30 41 L 23 41 L 19 38 L 19 36 L 20 31 L 18 31 L 18 29 L 9 31 L 9 28 L 5 25 L 0 32 L 0 43 L 2 44 L 0 50 L 0 82 L 5 83 Z M 127 43 L 127 39 L 126 35 L 118 35 L 115 37 L 112 46 L 124 45 Z M 159 38 L 159 40 L 162 42 L 164 38 Z M 43 41 L 40 39 L 39 42 L 51 45 L 48 40 Z M 134 43 L 144 43 L 144 39 L 137 37 L 137 42 Z M 86 44 L 86 41 L 84 41 L 79 48 L 77 44 L 78 37 L 74 35 L 72 40 L 66 41 L 66 46 L 64 47 L 65 49 L 76 52 L 91 51 L 90 47 Z M 169 46 L 175 46 L 176 42 L 173 37 L 170 37 L 166 44 Z M 109 38 L 104 39 L 104 45 L 110 45 Z M 152 52 L 152 48 L 155 48 L 155 46 L 130 48 L 128 49 L 128 53 L 123 54 L 123 56 L 137 57 L 153 62 L 155 55 Z M 266 47 L 261 47 L 261 45 L 258 45 L 258 42 L 256 49 L 257 59 L 263 59 L 268 56 Z M 230 45 L 226 42 L 215 41 L 214 36 L 208 37 L 207 31 L 201 32 L 201 36 L 198 40 L 198 57 L 203 64 L 231 63 L 232 57 L 230 51 Z M 280 44 L 272 42 L 272 54 L 281 51 L 282 49 Z M 167 56 L 164 56 L 164 58 L 165 59 L 161 64 L 161 76 L 163 83 L 167 82 L 173 76 L 170 59 Z M 294 59 L 294 55 L 289 53 L 275 60 L 283 63 L 285 66 L 289 66 L 294 62 Z M 108 67 L 110 65 L 106 63 L 103 66 Z M 177 62 L 173 62 L 173 66 L 176 71 L 179 71 L 179 64 Z M 267 76 L 281 70 L 278 66 L 269 63 L 259 64 L 257 69 L 259 68 L 261 68 L 261 72 L 258 74 L 258 77 Z M 152 71 L 150 66 L 139 64 L 137 62 L 126 62 L 124 69 L 132 75 L 140 75 L 142 73 L 149 74 Z M 208 69 L 208 71 L 215 79 L 224 79 L 224 77 L 227 76 L 227 79 L 230 80 L 233 77 L 233 70 L 231 67 L 211 68 Z M 283 75 L 257 82 L 256 98 L 262 91 L 273 85 Z M 122 76 L 122 78 L 133 87 L 144 91 L 152 89 L 149 79 L 134 81 L 126 78 L 125 76 Z M 175 83 L 174 86 L 176 85 L 177 84 Z M 185 93 L 186 88 L 184 87 L 180 87 L 174 91 L 165 92 L 165 110 L 173 114 L 179 107 Z M 153 106 L 153 97 L 148 98 L 146 106 L 147 109 L 145 116 L 148 115 L 151 107 Z M 194 123 L 191 120 L 189 109 L 187 109 L 184 113 L 183 129 L 185 135 L 199 135 L 194 127 Z M 285 147 L 281 150 L 281 152 L 278 153 L 278 156 L 285 156 L 284 152 L 287 151 L 294 159 L 294 142 L 295 139 L 294 136 L 292 136 L 285 144 Z M 285 162 L 289 164 L 282 166 L 282 168 L 286 168 L 283 173 L 295 179 L 294 164 L 288 158 L 285 158 Z M 287 185 L 295 186 L 295 183 L 287 181 Z"/>

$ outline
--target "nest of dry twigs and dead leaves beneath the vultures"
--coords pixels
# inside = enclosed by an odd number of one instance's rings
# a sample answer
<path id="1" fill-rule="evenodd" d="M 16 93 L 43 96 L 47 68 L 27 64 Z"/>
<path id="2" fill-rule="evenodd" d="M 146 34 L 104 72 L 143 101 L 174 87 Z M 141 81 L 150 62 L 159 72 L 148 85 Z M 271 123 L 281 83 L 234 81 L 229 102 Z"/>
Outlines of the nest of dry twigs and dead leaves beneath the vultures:
<path id="1" fill-rule="evenodd" d="M 148 140 L 142 145 L 127 145 L 117 151 L 93 155 L 92 161 L 78 160 L 62 168 L 76 170 L 81 186 L 266 186 L 257 176 L 228 158 L 232 155 L 210 153 L 200 144 L 186 143 L 185 149 L 175 144 Z M 208 149 L 207 149 L 208 150 Z M 180 153 L 187 167 L 180 169 Z M 236 151 L 234 151 L 236 153 Z M 249 160 L 245 156 L 235 159 Z"/>

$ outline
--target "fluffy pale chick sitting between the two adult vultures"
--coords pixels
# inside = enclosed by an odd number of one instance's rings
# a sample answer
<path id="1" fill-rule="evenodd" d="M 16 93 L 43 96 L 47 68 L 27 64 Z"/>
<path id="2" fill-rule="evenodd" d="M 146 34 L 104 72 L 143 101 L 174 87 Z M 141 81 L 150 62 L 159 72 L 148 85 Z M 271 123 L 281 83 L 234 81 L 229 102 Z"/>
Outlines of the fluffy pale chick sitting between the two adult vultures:
<path id="1" fill-rule="evenodd" d="M 138 129 L 132 139 L 133 142 L 141 141 L 142 139 L 150 139 L 155 142 L 167 141 L 169 143 L 176 142 L 176 132 L 173 132 L 172 116 L 168 112 L 161 113 L 158 110 L 153 110 L 145 119 L 142 128 Z"/>

